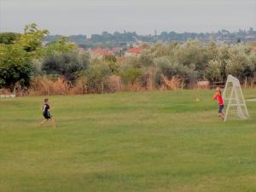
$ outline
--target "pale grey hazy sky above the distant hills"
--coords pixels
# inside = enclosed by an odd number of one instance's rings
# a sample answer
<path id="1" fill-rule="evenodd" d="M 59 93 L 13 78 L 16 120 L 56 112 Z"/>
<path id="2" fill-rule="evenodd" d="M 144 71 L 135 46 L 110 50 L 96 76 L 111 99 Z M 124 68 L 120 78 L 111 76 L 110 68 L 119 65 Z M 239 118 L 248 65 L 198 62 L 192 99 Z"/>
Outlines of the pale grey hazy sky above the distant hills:
<path id="1" fill-rule="evenodd" d="M 256 28 L 256 0 L 0 0 L 0 31 L 35 22 L 51 34 Z"/>

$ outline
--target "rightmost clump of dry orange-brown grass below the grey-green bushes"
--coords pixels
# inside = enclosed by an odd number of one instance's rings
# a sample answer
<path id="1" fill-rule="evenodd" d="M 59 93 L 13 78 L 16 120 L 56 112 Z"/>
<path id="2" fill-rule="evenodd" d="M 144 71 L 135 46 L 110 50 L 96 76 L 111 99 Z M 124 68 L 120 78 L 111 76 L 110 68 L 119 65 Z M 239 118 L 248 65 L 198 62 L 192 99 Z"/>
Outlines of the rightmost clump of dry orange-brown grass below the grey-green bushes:
<path id="1" fill-rule="evenodd" d="M 166 76 L 162 75 L 162 84 L 160 90 L 177 90 L 183 88 L 183 81 L 177 77 L 172 77 L 172 79 L 167 79 Z"/>

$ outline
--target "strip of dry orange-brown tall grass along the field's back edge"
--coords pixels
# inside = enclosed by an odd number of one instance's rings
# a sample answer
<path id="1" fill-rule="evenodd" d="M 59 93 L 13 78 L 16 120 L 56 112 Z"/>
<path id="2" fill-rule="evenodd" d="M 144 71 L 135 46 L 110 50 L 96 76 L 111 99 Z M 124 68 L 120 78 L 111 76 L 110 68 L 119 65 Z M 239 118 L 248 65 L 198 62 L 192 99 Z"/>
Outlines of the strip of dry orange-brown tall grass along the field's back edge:
<path id="1" fill-rule="evenodd" d="M 183 89 L 183 81 L 177 77 L 167 79 L 165 76 L 161 77 L 160 86 L 156 87 L 152 75 L 146 77 L 143 82 L 138 81 L 134 84 L 125 84 L 122 79 L 113 75 L 108 81 L 102 82 L 102 88 L 95 92 L 88 90 L 85 86 L 84 79 L 78 79 L 75 84 L 71 84 L 66 79 L 58 77 L 57 79 L 50 79 L 49 77 L 34 77 L 31 81 L 29 96 L 67 96 L 67 95 L 82 95 L 89 93 L 113 93 L 120 91 L 142 91 L 142 90 L 177 90 Z M 6 91 L 6 90 L 5 90 Z M 20 95 L 23 96 L 23 95 Z"/>

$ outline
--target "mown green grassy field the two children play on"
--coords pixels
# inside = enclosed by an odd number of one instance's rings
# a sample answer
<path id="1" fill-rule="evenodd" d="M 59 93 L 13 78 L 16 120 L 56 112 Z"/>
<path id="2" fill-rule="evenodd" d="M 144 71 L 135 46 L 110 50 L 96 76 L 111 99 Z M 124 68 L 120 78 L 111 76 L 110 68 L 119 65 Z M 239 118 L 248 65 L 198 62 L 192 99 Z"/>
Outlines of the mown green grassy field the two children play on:
<path id="1" fill-rule="evenodd" d="M 256 102 L 224 123 L 210 90 L 50 96 L 51 129 L 43 98 L 0 100 L 1 192 L 256 191 Z"/>

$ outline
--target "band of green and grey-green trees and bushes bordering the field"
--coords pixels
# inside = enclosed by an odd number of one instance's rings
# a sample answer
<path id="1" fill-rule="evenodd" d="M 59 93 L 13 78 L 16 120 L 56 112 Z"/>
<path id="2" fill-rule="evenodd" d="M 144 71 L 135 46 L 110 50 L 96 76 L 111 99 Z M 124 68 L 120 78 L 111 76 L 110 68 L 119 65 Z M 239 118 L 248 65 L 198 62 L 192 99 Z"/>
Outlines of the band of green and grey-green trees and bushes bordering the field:
<path id="1" fill-rule="evenodd" d="M 189 88 L 198 80 L 224 81 L 228 74 L 253 82 L 256 73 L 256 51 L 246 43 L 142 43 L 140 55 L 91 58 L 68 38 L 43 46 L 47 34 L 36 24 L 26 26 L 22 34 L 0 34 L 1 88 L 29 88 L 40 79 L 54 83 L 61 77 L 68 89 L 79 84 L 79 93 L 172 90 Z"/>

